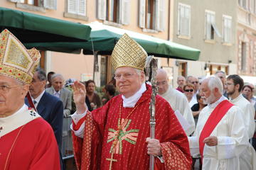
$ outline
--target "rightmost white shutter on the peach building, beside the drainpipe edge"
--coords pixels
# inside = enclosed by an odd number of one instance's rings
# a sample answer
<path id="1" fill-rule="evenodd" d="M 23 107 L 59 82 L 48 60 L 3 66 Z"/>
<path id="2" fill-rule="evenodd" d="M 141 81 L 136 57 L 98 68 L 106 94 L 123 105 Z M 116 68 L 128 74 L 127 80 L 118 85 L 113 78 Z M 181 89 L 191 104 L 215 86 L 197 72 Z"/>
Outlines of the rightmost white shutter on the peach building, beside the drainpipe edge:
<path id="1" fill-rule="evenodd" d="M 157 2 L 157 13 L 156 13 L 156 29 L 164 31 L 164 3 L 165 0 L 158 0 Z"/>

